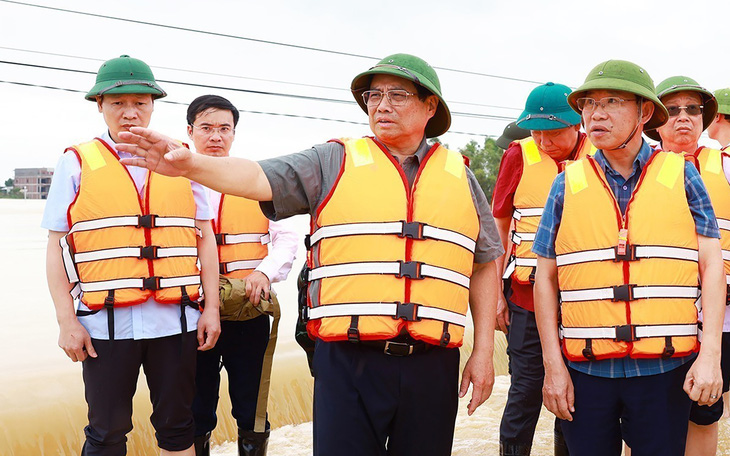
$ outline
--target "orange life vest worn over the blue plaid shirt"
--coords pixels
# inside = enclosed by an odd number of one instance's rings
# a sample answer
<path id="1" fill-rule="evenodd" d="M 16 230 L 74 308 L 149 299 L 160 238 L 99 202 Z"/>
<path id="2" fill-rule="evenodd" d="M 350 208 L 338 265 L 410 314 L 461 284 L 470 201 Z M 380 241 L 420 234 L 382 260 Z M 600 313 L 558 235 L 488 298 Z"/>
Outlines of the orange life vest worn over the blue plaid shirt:
<path id="1" fill-rule="evenodd" d="M 655 152 L 623 216 L 592 157 L 567 166 L 555 251 L 568 359 L 698 350 L 698 244 L 684 163 Z"/>

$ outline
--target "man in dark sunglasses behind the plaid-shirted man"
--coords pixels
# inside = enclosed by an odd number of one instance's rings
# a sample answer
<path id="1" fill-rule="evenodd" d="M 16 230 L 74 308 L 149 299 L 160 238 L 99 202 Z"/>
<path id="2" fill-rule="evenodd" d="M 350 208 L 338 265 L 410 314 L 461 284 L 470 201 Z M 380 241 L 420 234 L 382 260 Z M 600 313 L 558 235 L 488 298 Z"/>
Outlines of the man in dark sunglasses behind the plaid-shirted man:
<path id="1" fill-rule="evenodd" d="M 657 96 L 669 112 L 669 121 L 646 132 L 654 140 L 660 140 L 659 147 L 666 151 L 685 154 L 702 176 L 720 228 L 720 243 L 730 253 L 730 185 L 723 169 L 730 171 L 730 157 L 719 150 L 699 146 L 702 132 L 715 120 L 717 100 L 686 76 L 674 76 L 657 85 Z M 730 273 L 730 258 L 725 260 L 725 273 Z M 730 283 L 730 275 L 727 276 Z M 703 299 L 704 301 L 704 299 Z M 722 378 L 723 392 L 730 387 L 730 313 L 725 314 L 722 334 Z M 722 418 L 723 397 L 711 406 L 692 403 L 687 451 L 691 455 L 714 455 L 717 452 L 718 421 Z"/>

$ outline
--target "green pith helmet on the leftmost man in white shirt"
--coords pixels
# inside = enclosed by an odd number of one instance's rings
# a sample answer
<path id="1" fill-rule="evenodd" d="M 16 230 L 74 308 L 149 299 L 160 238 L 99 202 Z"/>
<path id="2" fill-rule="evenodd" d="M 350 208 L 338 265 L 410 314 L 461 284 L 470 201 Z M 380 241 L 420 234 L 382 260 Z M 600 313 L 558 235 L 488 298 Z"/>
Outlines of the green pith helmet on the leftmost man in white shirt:
<path id="1" fill-rule="evenodd" d="M 155 82 L 150 67 L 128 55 L 104 62 L 96 74 L 96 84 L 85 98 L 96 101 L 97 95 L 109 93 L 149 93 L 153 99 L 167 96 Z"/>

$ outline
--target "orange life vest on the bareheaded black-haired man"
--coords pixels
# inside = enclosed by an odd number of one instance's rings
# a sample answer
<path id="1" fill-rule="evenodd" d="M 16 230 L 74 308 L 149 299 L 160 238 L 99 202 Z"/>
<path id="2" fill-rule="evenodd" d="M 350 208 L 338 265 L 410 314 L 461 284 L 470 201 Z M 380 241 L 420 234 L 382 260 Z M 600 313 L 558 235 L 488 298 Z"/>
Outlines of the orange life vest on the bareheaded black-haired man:
<path id="1" fill-rule="evenodd" d="M 245 278 L 269 254 L 269 219 L 261 212 L 258 201 L 221 195 L 213 229 L 220 273 L 228 278 Z"/>

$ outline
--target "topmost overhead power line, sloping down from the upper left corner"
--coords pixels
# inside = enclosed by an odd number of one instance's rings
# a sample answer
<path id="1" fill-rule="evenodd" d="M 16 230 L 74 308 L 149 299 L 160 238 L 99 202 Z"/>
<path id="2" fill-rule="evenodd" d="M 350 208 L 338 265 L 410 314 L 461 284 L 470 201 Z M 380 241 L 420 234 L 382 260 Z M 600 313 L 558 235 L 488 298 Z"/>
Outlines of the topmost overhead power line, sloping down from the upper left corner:
<path id="1" fill-rule="evenodd" d="M 251 41 L 254 43 L 269 44 L 269 45 L 273 45 L 273 46 L 282 46 L 282 47 L 289 47 L 289 48 L 301 49 L 301 50 L 306 50 L 306 51 L 322 52 L 322 53 L 333 54 L 333 55 L 341 55 L 341 56 L 345 56 L 345 57 L 355 57 L 355 58 L 369 59 L 369 60 L 380 60 L 380 57 L 374 57 L 371 55 L 355 54 L 352 52 L 344 52 L 344 51 L 335 51 L 332 49 L 316 48 L 316 47 L 312 47 L 312 46 L 302 46 L 299 44 L 282 43 L 279 41 L 262 40 L 259 38 L 251 38 L 251 37 L 246 37 L 246 36 L 241 36 L 241 35 L 232 35 L 232 34 L 228 34 L 228 33 L 211 32 L 208 30 L 199 30 L 199 29 L 194 29 L 194 28 L 190 28 L 190 27 L 180 27 L 177 25 L 160 24 L 157 22 L 140 21 L 138 19 L 129 19 L 129 18 L 124 18 L 124 17 L 109 16 L 106 14 L 89 13 L 86 11 L 70 10 L 70 9 L 57 8 L 57 7 L 46 6 L 46 5 L 36 5 L 33 3 L 18 2 L 18 1 L 13 1 L 13 0 L 0 0 L 0 2 L 12 3 L 15 5 L 29 6 L 29 7 L 33 7 L 33 8 L 40 8 L 40 9 L 46 9 L 46 10 L 52 10 L 52 11 L 59 11 L 59 12 L 63 12 L 63 13 L 78 14 L 78 15 L 82 15 L 82 16 L 96 17 L 96 18 L 101 18 L 101 19 L 123 21 L 123 22 L 129 22 L 132 24 L 148 25 L 151 27 L 161 27 L 161 28 L 177 30 L 177 31 L 182 31 L 182 32 L 199 33 L 199 34 L 203 34 L 203 35 L 218 36 L 221 38 L 232 38 L 232 39 L 236 39 L 236 40 Z M 438 66 L 435 66 L 433 68 L 435 68 L 437 70 L 451 71 L 454 73 L 469 74 L 469 75 L 473 75 L 473 76 L 504 79 L 507 81 L 525 82 L 528 84 L 537 84 L 537 85 L 542 84 L 542 82 L 540 82 L 540 81 L 533 81 L 530 79 L 522 79 L 522 78 L 514 78 L 511 76 L 501 76 L 501 75 L 489 74 L 489 73 L 481 73 L 478 71 L 460 70 L 460 69 L 456 69 L 456 68 L 447 68 L 447 67 L 438 67 Z"/>

